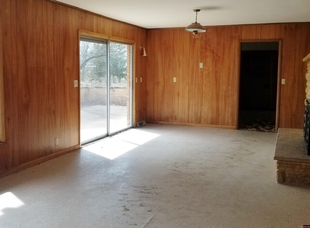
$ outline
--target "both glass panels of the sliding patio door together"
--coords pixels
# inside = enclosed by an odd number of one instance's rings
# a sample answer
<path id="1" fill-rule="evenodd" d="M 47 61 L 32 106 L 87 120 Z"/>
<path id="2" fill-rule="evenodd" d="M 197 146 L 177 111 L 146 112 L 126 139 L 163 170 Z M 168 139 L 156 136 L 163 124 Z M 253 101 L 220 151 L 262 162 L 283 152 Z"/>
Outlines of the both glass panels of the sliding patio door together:
<path id="1" fill-rule="evenodd" d="M 81 144 L 132 126 L 132 46 L 80 38 Z"/>

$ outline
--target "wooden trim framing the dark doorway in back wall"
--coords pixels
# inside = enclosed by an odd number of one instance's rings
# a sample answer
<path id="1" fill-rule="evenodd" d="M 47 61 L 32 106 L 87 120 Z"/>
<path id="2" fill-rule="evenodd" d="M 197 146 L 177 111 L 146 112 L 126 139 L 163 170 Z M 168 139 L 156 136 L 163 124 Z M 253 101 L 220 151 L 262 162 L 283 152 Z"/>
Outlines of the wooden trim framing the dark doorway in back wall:
<path id="1" fill-rule="evenodd" d="M 241 66 L 241 44 L 242 43 L 264 43 L 264 42 L 279 42 L 278 50 L 278 79 L 277 79 L 277 104 L 276 104 L 276 132 L 279 129 L 279 108 L 280 108 L 280 81 L 281 81 L 281 60 L 282 60 L 282 39 L 254 39 L 254 40 L 239 40 L 238 42 L 238 59 L 237 59 L 237 101 L 236 101 L 236 120 L 235 129 L 239 129 L 239 96 L 240 96 L 240 66 Z"/>

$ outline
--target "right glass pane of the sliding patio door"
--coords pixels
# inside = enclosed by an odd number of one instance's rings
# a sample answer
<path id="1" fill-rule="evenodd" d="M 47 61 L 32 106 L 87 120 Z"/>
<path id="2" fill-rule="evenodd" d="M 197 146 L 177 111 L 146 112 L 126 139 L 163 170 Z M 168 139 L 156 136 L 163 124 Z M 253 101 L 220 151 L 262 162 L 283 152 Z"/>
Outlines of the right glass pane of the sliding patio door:
<path id="1" fill-rule="evenodd" d="M 131 49 L 131 45 L 109 43 L 110 133 L 119 132 L 132 126 Z"/>

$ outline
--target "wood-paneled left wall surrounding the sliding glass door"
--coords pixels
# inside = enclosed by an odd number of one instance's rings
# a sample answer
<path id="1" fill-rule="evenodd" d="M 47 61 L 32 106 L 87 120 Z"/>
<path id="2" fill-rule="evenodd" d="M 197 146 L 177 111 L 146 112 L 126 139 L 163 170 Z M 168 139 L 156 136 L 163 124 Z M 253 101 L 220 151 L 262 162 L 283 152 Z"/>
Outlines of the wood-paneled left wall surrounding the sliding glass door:
<path id="1" fill-rule="evenodd" d="M 1 0 L 0 15 L 6 134 L 0 173 L 78 147 L 79 29 L 135 41 L 135 76 L 145 79 L 144 29 L 48 0 Z M 134 84 L 136 122 L 146 118 L 146 80 Z"/>

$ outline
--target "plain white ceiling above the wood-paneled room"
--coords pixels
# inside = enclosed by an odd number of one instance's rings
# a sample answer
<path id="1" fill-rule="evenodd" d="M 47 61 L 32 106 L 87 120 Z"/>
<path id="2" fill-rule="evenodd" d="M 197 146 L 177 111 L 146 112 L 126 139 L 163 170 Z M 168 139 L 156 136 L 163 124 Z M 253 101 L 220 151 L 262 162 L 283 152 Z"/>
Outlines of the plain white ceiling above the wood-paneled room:
<path id="1" fill-rule="evenodd" d="M 58 0 L 143 28 L 310 22 L 310 0 Z"/>

